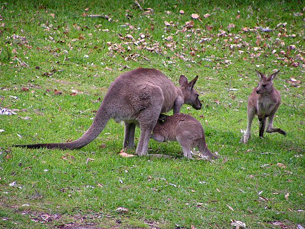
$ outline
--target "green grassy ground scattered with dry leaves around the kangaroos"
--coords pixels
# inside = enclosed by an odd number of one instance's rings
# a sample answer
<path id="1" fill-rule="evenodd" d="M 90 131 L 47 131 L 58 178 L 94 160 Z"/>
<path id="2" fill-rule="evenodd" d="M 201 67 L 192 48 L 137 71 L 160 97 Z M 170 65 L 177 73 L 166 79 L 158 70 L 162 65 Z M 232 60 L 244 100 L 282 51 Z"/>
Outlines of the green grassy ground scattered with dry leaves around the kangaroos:
<path id="1" fill-rule="evenodd" d="M 236 228 L 234 220 L 247 228 L 305 226 L 302 1 L 138 4 L 0 3 L 1 106 L 17 113 L 0 116 L 0 226 Z M 180 74 L 199 75 L 203 107 L 185 105 L 182 112 L 200 120 L 220 159 L 187 160 L 176 142 L 153 140 L 149 153 L 176 159 L 122 158 L 124 126 L 113 121 L 81 150 L 12 147 L 78 138 L 110 83 L 138 67 L 159 69 L 176 84 Z M 260 139 L 254 121 L 243 145 L 254 69 L 281 71 L 274 124 L 287 136 Z"/>

